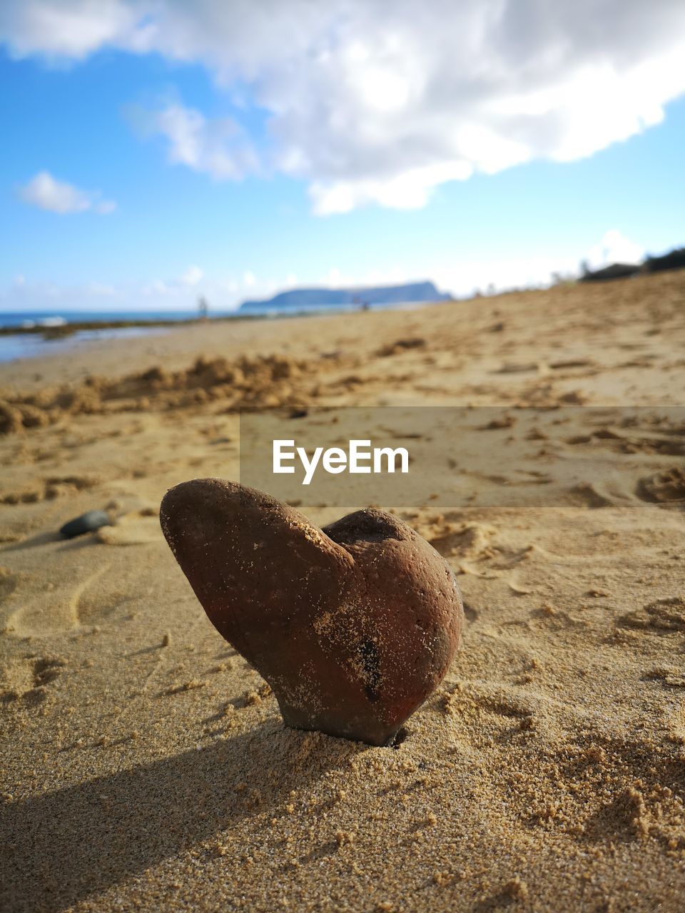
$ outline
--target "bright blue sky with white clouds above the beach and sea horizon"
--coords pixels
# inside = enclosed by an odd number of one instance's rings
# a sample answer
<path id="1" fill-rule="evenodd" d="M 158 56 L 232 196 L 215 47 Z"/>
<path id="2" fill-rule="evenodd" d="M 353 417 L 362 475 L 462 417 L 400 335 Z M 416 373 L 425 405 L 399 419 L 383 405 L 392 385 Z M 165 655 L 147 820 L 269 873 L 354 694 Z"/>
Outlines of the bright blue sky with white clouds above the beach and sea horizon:
<path id="1" fill-rule="evenodd" d="M 468 294 L 685 245 L 685 13 L 623 4 L 605 38 L 519 4 L 522 46 L 489 2 L 451 35 L 402 3 L 9 2 L 0 310 Z"/>

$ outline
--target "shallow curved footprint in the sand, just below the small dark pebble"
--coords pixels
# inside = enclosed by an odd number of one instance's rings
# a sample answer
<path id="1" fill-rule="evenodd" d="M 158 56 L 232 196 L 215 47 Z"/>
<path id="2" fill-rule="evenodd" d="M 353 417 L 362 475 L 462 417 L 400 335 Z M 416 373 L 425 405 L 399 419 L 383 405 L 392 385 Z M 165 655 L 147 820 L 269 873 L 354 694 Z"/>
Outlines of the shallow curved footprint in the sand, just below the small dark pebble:
<path id="1" fill-rule="evenodd" d="M 44 636 L 100 620 L 115 606 L 103 608 L 98 600 L 90 601 L 88 593 L 110 567 L 109 563 L 103 564 L 76 584 L 69 582 L 52 588 L 43 585 L 38 589 L 36 582 L 29 580 L 25 586 L 17 587 L 11 601 L 21 604 L 6 618 L 5 631 L 19 637 Z M 96 605 L 98 609 L 93 612 Z"/>

